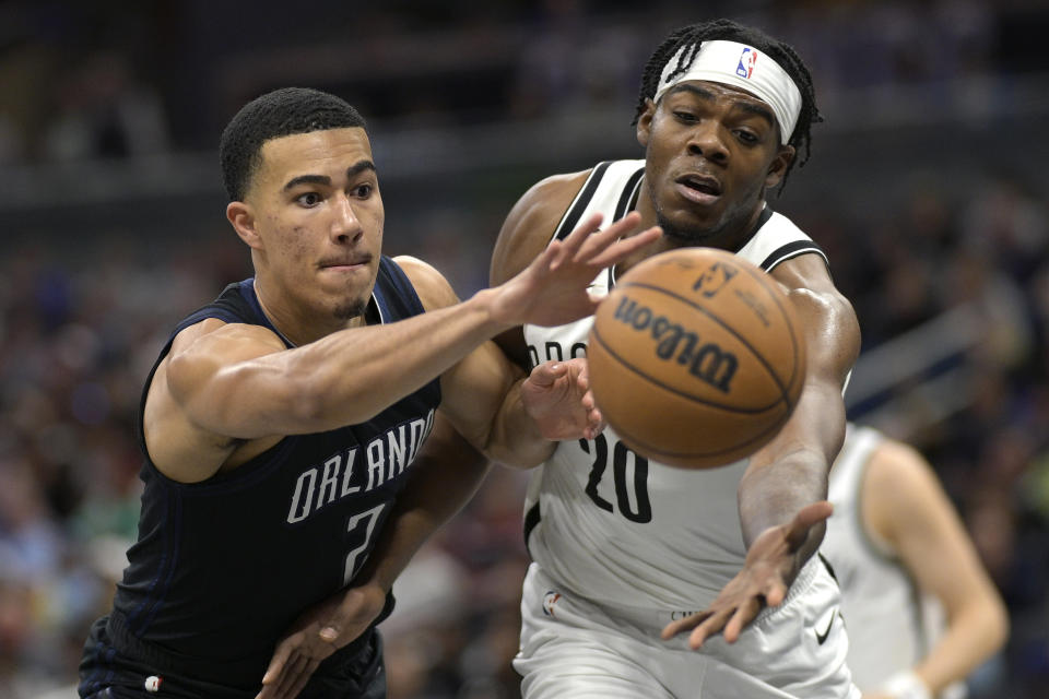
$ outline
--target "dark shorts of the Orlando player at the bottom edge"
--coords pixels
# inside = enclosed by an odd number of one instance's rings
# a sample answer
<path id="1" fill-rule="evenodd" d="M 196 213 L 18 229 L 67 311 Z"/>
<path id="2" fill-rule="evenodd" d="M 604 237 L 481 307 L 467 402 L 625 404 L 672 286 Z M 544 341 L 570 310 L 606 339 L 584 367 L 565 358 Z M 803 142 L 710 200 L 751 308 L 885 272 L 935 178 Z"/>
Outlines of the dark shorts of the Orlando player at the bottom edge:
<path id="1" fill-rule="evenodd" d="M 82 699 L 255 699 L 262 688 L 208 682 L 186 667 L 185 659 L 173 660 L 125 632 L 114 632 L 109 617 L 91 627 L 80 662 Z M 117 638 L 115 638 L 117 637 Z M 268 659 L 267 661 L 268 662 Z M 262 665 L 264 668 L 264 664 Z M 160 691 L 146 689 L 151 678 L 160 677 Z M 155 680 L 154 680 L 155 682 Z M 326 660 L 310 678 L 298 699 L 385 699 L 386 667 L 382 664 L 382 638 L 375 628 Z"/>

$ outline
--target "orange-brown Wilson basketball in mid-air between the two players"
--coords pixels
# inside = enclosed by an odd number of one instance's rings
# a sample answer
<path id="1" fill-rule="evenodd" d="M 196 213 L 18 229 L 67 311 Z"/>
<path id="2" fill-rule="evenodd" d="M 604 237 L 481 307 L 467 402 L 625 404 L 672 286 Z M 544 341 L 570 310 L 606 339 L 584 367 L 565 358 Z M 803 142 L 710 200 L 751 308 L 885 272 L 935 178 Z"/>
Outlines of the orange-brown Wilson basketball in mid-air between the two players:
<path id="1" fill-rule="evenodd" d="M 805 379 L 798 317 L 757 265 L 683 248 L 632 268 L 598 306 L 587 359 L 598 407 L 637 453 L 712 469 L 754 453 Z"/>

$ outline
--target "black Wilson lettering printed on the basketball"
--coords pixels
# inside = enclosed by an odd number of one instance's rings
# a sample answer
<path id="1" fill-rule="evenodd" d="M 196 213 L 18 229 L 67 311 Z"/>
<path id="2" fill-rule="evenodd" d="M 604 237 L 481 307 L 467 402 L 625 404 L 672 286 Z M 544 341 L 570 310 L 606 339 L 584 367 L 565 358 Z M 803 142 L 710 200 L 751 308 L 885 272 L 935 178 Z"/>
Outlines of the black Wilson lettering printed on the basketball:
<path id="1" fill-rule="evenodd" d="M 656 356 L 663 362 L 676 360 L 688 366 L 688 374 L 712 386 L 722 393 L 731 390 L 732 377 L 740 366 L 731 352 L 712 342 L 700 343 L 699 335 L 685 330 L 665 316 L 657 316 L 648 306 L 629 296 L 620 299 L 613 316 L 633 330 L 648 334 L 656 341 Z"/>

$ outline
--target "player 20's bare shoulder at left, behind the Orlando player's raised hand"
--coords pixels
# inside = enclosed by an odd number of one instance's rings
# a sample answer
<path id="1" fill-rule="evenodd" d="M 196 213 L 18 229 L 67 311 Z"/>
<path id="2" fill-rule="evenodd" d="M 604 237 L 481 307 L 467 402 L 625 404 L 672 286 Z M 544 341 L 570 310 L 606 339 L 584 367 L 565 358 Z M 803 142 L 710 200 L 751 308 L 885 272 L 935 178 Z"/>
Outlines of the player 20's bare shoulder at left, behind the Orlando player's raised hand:
<path id="1" fill-rule="evenodd" d="M 492 254 L 493 285 L 512 277 L 542 252 L 592 169 L 545 177 L 517 200 L 503 223 Z"/>

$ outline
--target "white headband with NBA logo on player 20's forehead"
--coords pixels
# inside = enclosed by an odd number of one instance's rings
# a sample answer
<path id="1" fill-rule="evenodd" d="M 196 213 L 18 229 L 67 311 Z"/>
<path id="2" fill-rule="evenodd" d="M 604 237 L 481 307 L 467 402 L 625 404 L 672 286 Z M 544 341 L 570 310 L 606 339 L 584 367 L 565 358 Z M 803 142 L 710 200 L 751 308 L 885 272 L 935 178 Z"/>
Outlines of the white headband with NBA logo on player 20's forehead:
<path id="1" fill-rule="evenodd" d="M 670 87 L 686 80 L 706 80 L 741 87 L 768 103 L 779 122 L 782 142 L 790 140 L 801 111 L 801 92 L 779 63 L 767 54 L 761 54 L 745 44 L 704 42 L 688 70 L 670 79 L 669 75 L 677 67 L 682 51 L 689 48 L 691 46 L 682 47 L 667 61 L 656 90 L 655 102 L 659 102 Z"/>

